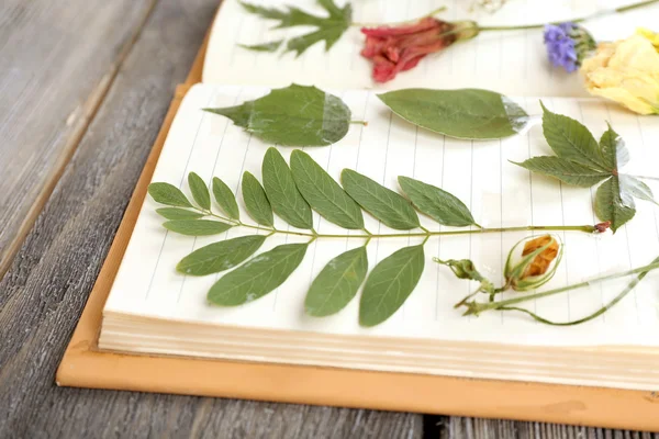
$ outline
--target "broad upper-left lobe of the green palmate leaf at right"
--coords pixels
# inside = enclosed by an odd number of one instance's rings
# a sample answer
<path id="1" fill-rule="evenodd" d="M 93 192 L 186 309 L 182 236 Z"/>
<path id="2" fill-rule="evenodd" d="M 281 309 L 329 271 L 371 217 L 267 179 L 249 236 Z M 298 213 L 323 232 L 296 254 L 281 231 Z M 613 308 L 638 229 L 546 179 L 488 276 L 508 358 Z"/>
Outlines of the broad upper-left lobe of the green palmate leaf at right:
<path id="1" fill-rule="evenodd" d="M 606 161 L 591 132 L 578 121 L 552 113 L 544 103 L 540 104 L 543 105 L 543 133 L 554 153 L 560 158 L 597 170 L 606 170 Z"/>

